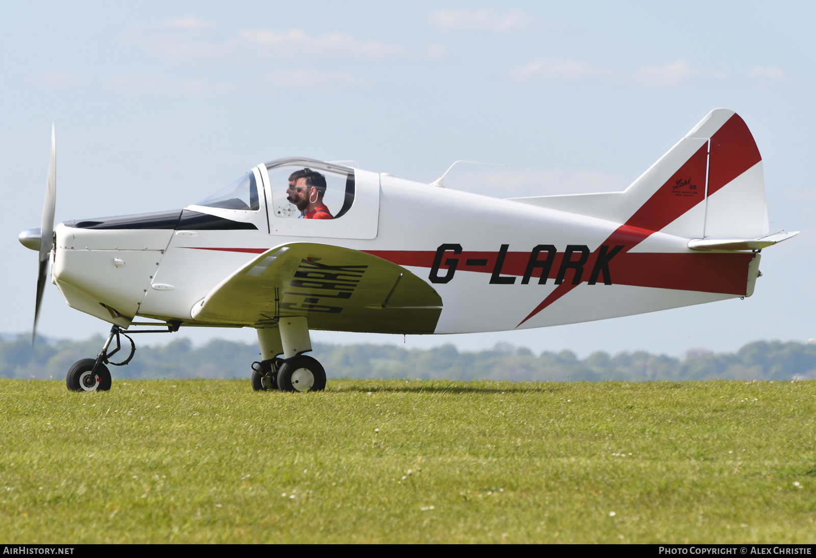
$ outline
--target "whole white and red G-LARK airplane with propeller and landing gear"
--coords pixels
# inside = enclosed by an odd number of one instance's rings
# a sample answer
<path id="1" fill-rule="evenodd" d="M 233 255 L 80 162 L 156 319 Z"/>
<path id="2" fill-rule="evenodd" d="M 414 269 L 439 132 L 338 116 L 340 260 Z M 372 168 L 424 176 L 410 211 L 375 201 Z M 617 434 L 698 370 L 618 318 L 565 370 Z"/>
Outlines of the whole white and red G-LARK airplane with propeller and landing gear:
<path id="1" fill-rule="evenodd" d="M 110 388 L 105 364 L 122 364 L 109 357 L 131 326 L 206 325 L 257 330 L 256 390 L 313 391 L 326 373 L 304 354 L 309 330 L 502 331 L 746 297 L 761 249 L 796 235 L 769 235 L 759 150 L 726 109 L 623 192 L 502 200 L 442 182 L 293 157 L 184 210 L 52 233 L 52 131 L 42 228 L 20 233 L 40 253 L 34 328 L 50 259 L 69 306 L 113 324 L 99 355 L 71 367 L 69 389 Z M 299 219 L 316 206 L 318 218 Z M 134 350 L 131 339 L 126 361 Z"/>

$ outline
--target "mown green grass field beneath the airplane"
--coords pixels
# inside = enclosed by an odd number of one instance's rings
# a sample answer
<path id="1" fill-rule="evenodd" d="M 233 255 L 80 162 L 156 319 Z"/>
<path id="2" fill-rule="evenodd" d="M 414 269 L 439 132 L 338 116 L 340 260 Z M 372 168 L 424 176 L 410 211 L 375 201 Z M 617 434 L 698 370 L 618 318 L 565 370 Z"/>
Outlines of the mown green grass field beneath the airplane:
<path id="1" fill-rule="evenodd" d="M 814 542 L 816 383 L 0 380 L 2 542 Z"/>

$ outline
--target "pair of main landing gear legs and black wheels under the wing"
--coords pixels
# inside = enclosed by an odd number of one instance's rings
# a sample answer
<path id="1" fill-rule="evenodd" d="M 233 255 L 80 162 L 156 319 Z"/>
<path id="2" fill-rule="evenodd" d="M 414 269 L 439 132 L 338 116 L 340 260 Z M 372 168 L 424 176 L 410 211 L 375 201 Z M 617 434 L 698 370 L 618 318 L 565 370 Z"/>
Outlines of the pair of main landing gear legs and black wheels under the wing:
<path id="1" fill-rule="evenodd" d="M 326 388 L 326 370 L 303 354 L 312 350 L 306 318 L 281 318 L 277 327 L 259 328 L 258 344 L 264 360 L 252 363 L 256 392 L 320 392 Z"/>

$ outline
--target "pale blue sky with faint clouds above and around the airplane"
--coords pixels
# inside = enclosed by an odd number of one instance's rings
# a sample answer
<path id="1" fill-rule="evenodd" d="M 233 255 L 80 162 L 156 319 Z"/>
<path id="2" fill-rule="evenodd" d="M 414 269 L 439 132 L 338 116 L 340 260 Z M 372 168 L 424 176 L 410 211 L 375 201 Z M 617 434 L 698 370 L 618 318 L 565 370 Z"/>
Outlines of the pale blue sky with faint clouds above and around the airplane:
<path id="1" fill-rule="evenodd" d="M 0 7 L 0 330 L 30 330 L 48 134 L 56 219 L 196 202 L 259 162 L 355 159 L 496 197 L 625 188 L 709 110 L 765 165 L 772 231 L 751 299 L 542 330 L 409 337 L 579 354 L 734 350 L 816 337 L 814 4 L 776 2 L 6 2 Z M 104 323 L 53 286 L 40 330 Z M 188 330 L 254 339 L 252 330 Z M 167 337 L 151 338 L 166 342 Z M 316 333 L 337 342 L 401 337 Z"/>

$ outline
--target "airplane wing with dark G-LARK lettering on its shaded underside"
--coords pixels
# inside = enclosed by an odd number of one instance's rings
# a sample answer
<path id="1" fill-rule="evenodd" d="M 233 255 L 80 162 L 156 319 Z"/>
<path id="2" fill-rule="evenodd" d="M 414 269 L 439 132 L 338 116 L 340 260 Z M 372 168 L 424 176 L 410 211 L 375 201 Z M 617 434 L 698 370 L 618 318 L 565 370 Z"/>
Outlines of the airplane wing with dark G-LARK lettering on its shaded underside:
<path id="1" fill-rule="evenodd" d="M 290 242 L 233 272 L 191 315 L 245 325 L 304 316 L 313 330 L 429 334 L 441 309 L 437 291 L 396 263 L 339 246 Z"/>

